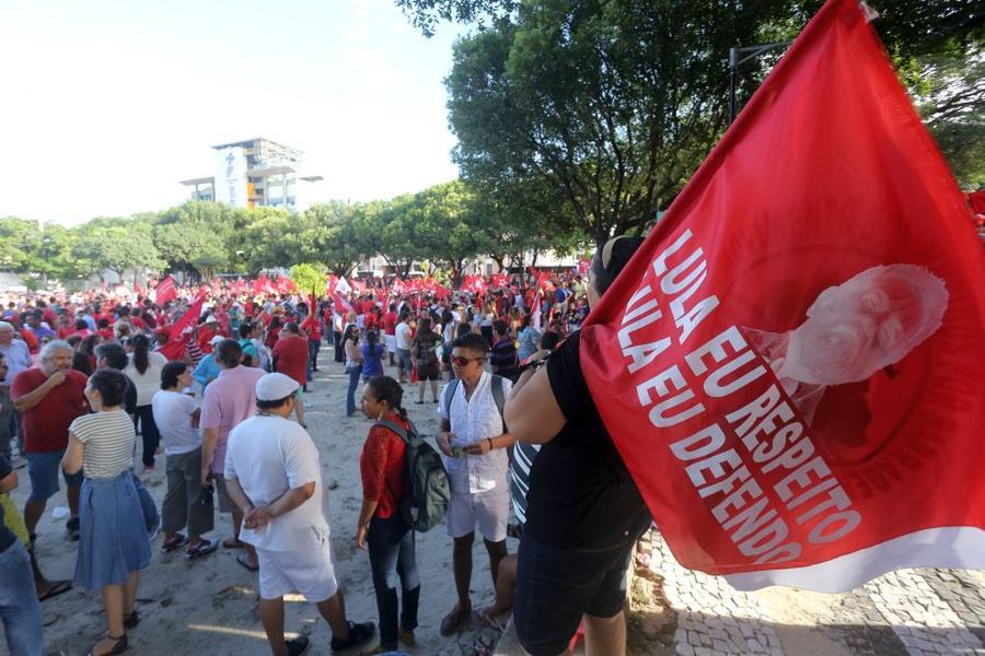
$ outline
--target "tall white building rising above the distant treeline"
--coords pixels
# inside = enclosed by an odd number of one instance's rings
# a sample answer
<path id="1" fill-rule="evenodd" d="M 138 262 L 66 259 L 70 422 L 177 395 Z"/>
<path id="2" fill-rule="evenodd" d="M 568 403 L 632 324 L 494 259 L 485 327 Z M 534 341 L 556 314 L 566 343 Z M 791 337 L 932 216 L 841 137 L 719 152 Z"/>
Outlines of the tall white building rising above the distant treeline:
<path id="1" fill-rule="evenodd" d="M 215 175 L 182 180 L 192 200 L 224 202 L 234 208 L 274 207 L 301 211 L 323 200 L 320 175 L 302 175 L 302 152 L 270 141 L 250 139 L 213 145 Z"/>

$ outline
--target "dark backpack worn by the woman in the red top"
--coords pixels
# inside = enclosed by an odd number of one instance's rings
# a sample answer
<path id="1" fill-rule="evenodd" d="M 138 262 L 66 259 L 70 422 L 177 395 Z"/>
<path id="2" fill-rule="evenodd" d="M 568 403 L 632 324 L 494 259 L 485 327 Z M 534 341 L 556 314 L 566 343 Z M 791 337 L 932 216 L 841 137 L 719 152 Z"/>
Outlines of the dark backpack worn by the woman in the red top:
<path id="1" fill-rule="evenodd" d="M 407 420 L 407 423 L 409 431 L 389 420 L 378 421 L 376 425 L 393 431 L 407 445 L 404 490 L 397 497 L 397 511 L 410 528 L 427 532 L 444 519 L 451 501 L 451 484 L 441 454 L 417 434 L 413 422 Z"/>

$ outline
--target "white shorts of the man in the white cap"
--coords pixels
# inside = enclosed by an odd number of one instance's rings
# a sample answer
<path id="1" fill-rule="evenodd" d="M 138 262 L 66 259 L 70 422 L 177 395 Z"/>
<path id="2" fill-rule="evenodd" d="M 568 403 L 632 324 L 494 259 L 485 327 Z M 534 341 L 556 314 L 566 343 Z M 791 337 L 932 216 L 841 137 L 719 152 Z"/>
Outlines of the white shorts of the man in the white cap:
<path id="1" fill-rule="evenodd" d="M 259 562 L 260 598 L 279 599 L 300 593 L 309 601 L 320 602 L 335 596 L 335 555 L 328 536 L 312 532 L 310 543 L 290 551 L 256 550 Z"/>

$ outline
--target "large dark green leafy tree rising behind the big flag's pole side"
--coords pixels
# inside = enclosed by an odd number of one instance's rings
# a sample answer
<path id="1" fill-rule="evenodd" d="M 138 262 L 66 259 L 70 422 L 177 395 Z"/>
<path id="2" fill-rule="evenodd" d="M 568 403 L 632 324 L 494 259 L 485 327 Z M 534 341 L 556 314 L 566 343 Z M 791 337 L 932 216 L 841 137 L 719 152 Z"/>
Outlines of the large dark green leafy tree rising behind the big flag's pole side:
<path id="1" fill-rule="evenodd" d="M 598 245 L 642 230 L 725 127 L 729 47 L 755 43 L 770 4 L 522 3 L 455 46 L 447 86 L 463 176 L 541 180 Z"/>

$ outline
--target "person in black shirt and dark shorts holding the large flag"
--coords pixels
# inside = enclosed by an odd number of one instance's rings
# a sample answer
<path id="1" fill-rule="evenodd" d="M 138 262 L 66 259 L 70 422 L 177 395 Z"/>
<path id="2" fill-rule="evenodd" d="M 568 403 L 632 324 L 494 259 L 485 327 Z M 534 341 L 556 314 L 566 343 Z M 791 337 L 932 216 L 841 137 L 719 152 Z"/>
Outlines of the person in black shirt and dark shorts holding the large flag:
<path id="1" fill-rule="evenodd" d="M 589 306 L 641 243 L 615 237 L 595 254 Z M 542 445 L 530 471 L 513 607 L 520 642 L 533 654 L 564 652 L 582 617 L 589 654 L 625 653 L 621 584 L 651 522 L 586 384 L 579 344 L 576 331 L 546 365 L 521 374 L 506 405 L 510 433 Z"/>

